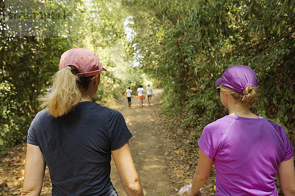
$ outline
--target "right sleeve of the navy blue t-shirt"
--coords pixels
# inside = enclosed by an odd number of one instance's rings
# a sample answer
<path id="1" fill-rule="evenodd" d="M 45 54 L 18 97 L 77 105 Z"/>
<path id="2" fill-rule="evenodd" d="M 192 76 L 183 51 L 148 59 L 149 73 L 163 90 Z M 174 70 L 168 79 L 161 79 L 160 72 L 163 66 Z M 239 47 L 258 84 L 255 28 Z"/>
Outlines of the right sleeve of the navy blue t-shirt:
<path id="1" fill-rule="evenodd" d="M 109 112 L 109 137 L 111 141 L 111 150 L 117 150 L 122 147 L 132 137 L 124 117 L 116 110 Z"/>

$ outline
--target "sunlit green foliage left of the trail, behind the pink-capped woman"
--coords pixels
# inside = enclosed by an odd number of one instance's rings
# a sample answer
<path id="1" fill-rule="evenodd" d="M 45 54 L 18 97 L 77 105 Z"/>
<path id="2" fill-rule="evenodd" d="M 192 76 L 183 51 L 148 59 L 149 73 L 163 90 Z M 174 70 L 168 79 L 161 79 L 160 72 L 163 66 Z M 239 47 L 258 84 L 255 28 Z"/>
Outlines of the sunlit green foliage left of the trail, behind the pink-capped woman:
<path id="1" fill-rule="evenodd" d="M 37 97 L 48 92 L 60 55 L 67 49 L 90 49 L 109 70 L 102 74 L 94 100 L 120 96 L 122 81 L 110 71 L 116 64 L 108 56 L 114 46 L 124 49 L 126 17 L 113 0 L 5 3 L 0 4 L 1 16 L 17 13 L 18 22 L 31 19 L 37 25 L 13 27 L 11 21 L 0 18 L 0 151 L 26 141 L 29 125 L 40 111 Z"/>

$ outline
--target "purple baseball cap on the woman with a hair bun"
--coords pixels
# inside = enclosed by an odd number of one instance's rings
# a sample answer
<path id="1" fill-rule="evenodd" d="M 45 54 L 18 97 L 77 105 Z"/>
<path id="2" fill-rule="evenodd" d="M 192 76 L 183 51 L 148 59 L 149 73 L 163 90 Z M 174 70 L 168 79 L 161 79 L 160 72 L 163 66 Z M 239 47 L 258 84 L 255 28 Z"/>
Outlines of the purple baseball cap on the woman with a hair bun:
<path id="1" fill-rule="evenodd" d="M 219 84 L 226 86 L 237 93 L 243 93 L 247 86 L 253 85 L 258 87 L 258 79 L 256 73 L 245 65 L 234 65 L 229 67 L 215 82 L 217 87 Z"/>

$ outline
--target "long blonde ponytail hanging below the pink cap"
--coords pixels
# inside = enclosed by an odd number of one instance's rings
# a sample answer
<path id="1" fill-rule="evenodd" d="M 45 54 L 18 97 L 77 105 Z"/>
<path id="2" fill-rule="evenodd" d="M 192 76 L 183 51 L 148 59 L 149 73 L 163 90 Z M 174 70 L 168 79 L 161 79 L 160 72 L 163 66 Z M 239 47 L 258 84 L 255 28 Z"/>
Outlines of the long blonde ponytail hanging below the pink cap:
<path id="1" fill-rule="evenodd" d="M 43 101 L 41 108 L 48 107 L 49 113 L 56 118 L 67 114 L 82 99 L 78 79 L 67 67 L 59 70 L 52 79 L 50 93 L 39 98 Z"/>

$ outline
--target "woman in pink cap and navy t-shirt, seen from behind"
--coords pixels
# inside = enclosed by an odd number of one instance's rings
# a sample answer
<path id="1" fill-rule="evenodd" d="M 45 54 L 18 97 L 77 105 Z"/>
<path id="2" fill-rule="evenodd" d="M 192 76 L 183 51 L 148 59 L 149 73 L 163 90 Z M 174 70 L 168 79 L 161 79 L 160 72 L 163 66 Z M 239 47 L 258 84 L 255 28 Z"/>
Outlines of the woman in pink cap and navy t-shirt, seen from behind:
<path id="1" fill-rule="evenodd" d="M 118 196 L 110 179 L 111 157 L 128 196 L 144 196 L 128 140 L 132 134 L 116 110 L 92 101 L 106 71 L 93 52 L 65 51 L 51 92 L 28 131 L 22 196 L 39 196 L 46 165 L 53 196 Z"/>

